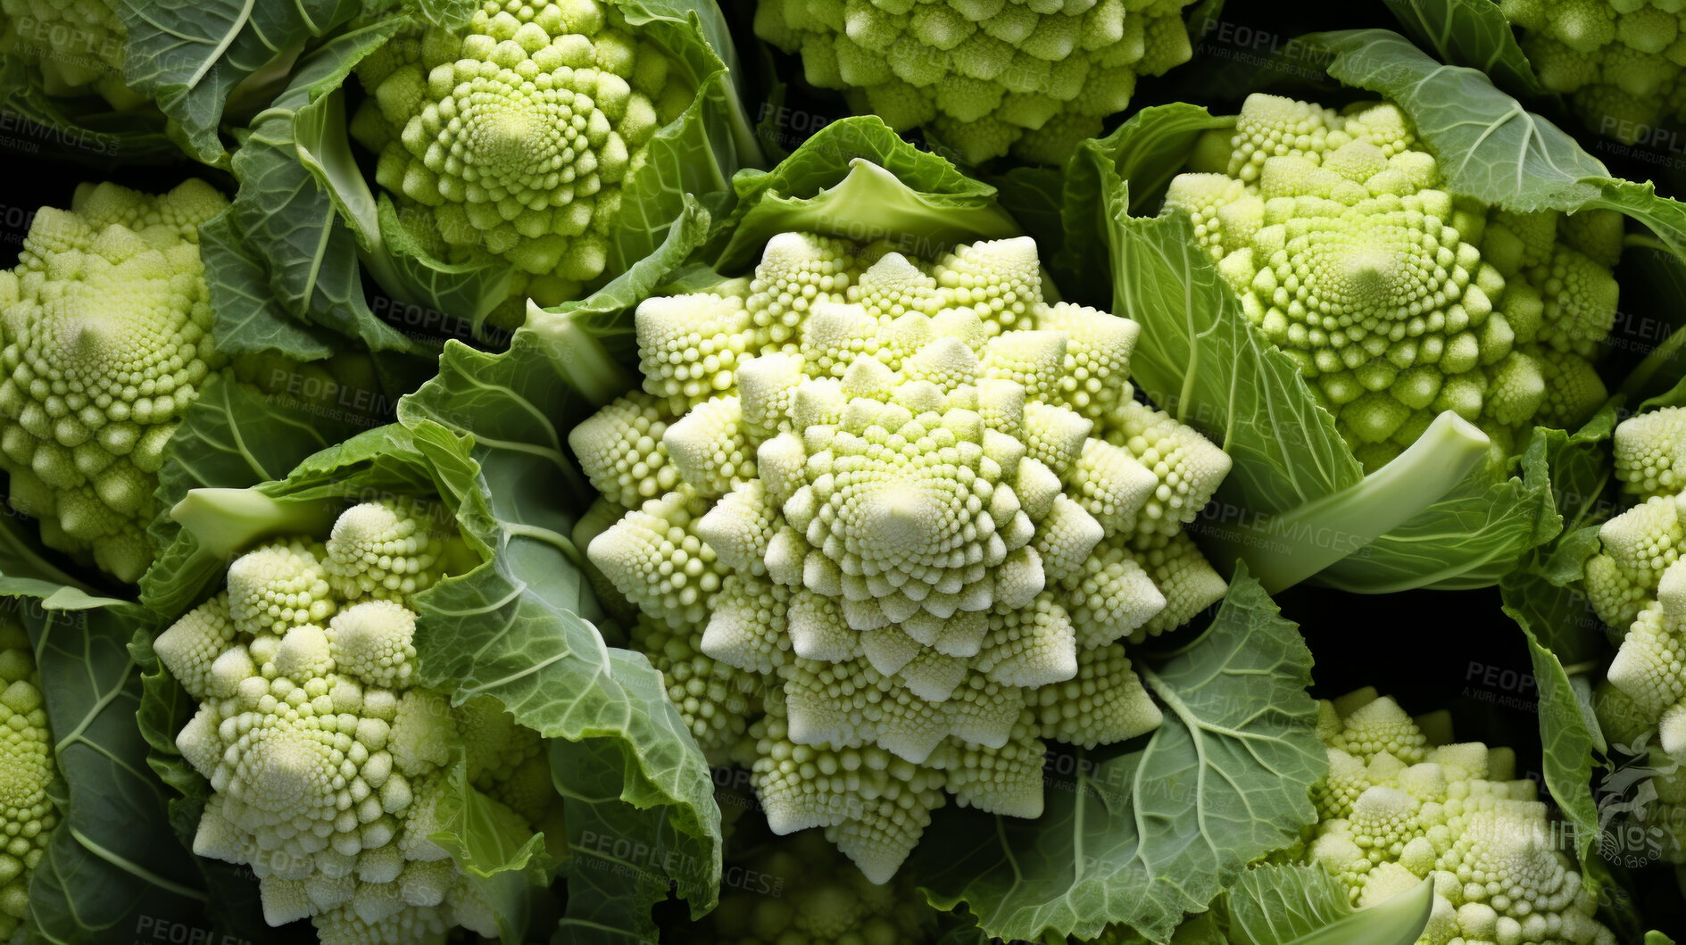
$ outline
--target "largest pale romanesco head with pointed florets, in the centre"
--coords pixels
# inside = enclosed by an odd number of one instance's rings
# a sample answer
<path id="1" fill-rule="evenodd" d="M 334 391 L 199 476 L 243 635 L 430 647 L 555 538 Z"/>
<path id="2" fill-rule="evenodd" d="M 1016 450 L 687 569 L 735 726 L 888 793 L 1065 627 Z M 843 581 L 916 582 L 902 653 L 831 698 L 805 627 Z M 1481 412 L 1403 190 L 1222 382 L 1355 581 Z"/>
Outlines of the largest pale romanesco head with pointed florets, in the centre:
<path id="1" fill-rule="evenodd" d="M 774 830 L 883 883 L 944 788 L 1035 817 L 1042 739 L 1158 724 L 1123 643 L 1224 593 L 1182 527 L 1229 458 L 1133 399 L 1135 322 L 1042 300 L 1030 238 L 786 232 L 636 330 L 642 391 L 570 435 L 620 515 L 577 541 Z"/>

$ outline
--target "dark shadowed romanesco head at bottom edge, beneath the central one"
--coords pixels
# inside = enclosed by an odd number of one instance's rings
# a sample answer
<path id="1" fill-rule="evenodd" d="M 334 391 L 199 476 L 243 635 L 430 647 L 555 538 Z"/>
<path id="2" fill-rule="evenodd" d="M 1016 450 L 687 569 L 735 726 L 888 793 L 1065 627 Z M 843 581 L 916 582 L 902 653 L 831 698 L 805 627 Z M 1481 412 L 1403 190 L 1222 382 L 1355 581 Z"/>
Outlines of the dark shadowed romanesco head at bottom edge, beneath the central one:
<path id="1" fill-rule="evenodd" d="M 797 834 L 744 864 L 781 888 L 720 896 L 710 915 L 718 945 L 926 945 L 937 913 L 910 881 L 878 886 L 830 849 L 818 830 Z"/>

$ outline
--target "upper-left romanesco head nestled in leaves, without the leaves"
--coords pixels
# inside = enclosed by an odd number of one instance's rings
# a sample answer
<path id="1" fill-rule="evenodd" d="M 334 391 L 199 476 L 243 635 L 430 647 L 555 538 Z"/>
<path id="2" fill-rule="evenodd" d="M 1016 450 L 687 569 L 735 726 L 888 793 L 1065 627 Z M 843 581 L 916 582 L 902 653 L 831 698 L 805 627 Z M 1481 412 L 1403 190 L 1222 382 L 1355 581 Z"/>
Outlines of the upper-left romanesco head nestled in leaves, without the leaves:
<path id="1" fill-rule="evenodd" d="M 357 66 L 352 135 L 406 229 L 447 261 L 516 270 L 524 300 L 577 298 L 604 275 L 620 190 L 696 94 L 612 2 L 484 0 L 462 29 L 427 27 Z"/>

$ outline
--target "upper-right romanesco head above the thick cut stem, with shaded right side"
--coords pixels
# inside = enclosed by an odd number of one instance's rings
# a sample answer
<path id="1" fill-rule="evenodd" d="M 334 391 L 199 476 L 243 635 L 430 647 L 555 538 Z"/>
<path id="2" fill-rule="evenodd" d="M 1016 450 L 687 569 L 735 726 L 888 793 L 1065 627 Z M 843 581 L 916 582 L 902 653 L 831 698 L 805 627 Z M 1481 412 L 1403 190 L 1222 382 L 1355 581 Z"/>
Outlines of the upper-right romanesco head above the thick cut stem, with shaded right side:
<path id="1" fill-rule="evenodd" d="M 1455 199 L 1393 104 L 1253 94 L 1199 163 L 1165 204 L 1189 212 L 1366 470 L 1442 411 L 1479 426 L 1502 468 L 1533 424 L 1571 426 L 1603 403 L 1592 359 L 1615 320 L 1614 212 Z"/>

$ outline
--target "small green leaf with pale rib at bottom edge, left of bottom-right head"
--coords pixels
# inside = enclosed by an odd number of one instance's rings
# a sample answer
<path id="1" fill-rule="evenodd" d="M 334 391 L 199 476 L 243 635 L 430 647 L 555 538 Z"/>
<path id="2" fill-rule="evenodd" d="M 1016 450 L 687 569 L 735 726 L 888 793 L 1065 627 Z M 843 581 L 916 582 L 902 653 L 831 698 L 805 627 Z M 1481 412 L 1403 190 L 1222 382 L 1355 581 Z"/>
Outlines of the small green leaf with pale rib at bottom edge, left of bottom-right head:
<path id="1" fill-rule="evenodd" d="M 1435 906 L 1435 883 L 1352 911 L 1347 888 L 1322 866 L 1248 869 L 1224 893 L 1231 945 L 1415 945 Z"/>

